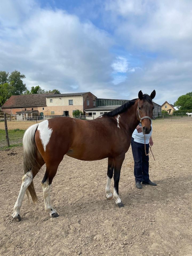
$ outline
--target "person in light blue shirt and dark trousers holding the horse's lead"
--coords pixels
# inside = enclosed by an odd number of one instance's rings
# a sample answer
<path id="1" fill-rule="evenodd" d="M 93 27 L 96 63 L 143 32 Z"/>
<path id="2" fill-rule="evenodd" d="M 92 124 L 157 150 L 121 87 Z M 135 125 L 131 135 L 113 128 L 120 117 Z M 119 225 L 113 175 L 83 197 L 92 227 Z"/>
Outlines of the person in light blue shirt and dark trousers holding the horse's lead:
<path id="1" fill-rule="evenodd" d="M 146 143 L 146 153 L 149 153 L 149 144 L 153 145 L 153 140 L 151 137 L 153 128 L 151 123 L 151 132 L 149 134 L 142 133 L 141 123 L 136 127 L 131 138 L 131 147 L 134 159 L 134 175 L 135 175 L 135 186 L 138 189 L 142 189 L 142 185 L 157 186 L 156 183 L 150 181 L 149 179 L 149 155 L 145 154 L 145 143 Z"/>

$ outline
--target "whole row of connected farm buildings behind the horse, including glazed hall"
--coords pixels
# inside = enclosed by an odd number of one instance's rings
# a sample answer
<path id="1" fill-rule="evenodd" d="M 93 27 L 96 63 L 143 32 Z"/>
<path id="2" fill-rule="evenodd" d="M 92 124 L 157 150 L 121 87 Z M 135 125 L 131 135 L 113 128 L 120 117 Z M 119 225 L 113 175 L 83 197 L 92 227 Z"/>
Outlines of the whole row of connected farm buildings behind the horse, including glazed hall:
<path id="1" fill-rule="evenodd" d="M 72 116 L 75 110 L 86 115 L 99 116 L 121 106 L 128 100 L 97 98 L 91 92 L 85 93 L 44 93 L 11 96 L 2 106 L 2 111 L 17 118 L 31 119 L 34 116 Z M 161 114 L 161 106 L 154 103 L 154 116 Z"/>

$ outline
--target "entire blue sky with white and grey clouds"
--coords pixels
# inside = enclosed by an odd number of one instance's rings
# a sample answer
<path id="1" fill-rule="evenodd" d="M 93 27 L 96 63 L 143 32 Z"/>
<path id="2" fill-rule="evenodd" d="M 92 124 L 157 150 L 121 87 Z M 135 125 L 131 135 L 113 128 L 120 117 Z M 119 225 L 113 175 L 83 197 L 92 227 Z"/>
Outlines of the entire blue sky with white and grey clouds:
<path id="1" fill-rule="evenodd" d="M 1 0 L 0 70 L 28 89 L 132 99 L 192 91 L 191 0 Z"/>

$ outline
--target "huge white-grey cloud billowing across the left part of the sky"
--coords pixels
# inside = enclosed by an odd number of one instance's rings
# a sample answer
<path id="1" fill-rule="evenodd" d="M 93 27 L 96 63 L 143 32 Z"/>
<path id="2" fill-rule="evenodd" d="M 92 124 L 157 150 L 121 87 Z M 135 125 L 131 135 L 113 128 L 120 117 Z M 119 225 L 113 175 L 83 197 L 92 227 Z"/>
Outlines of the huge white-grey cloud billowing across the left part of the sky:
<path id="1" fill-rule="evenodd" d="M 28 88 L 36 84 L 64 93 L 110 87 L 113 56 L 109 48 L 113 40 L 109 34 L 65 11 L 37 5 L 31 8 L 21 22 L 20 6 L 17 9 L 9 1 L 9 9 L 15 11 L 13 23 L 5 22 L 1 28 L 0 70 L 19 70 L 26 75 Z"/>

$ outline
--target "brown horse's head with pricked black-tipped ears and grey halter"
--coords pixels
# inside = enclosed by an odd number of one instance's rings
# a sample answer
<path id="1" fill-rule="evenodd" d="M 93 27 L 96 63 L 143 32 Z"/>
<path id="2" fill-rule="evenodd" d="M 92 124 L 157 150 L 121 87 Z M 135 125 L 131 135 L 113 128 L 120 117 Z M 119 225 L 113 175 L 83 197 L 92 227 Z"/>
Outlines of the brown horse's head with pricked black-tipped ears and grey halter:
<path id="1" fill-rule="evenodd" d="M 139 91 L 138 94 L 137 118 L 141 122 L 144 134 L 149 134 L 151 131 L 151 118 L 153 117 L 154 110 L 152 99 L 155 98 L 155 94 L 155 90 L 152 91 L 150 96 L 143 94 L 142 91 Z"/>

